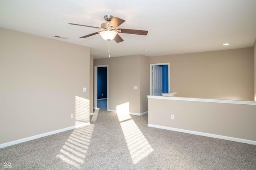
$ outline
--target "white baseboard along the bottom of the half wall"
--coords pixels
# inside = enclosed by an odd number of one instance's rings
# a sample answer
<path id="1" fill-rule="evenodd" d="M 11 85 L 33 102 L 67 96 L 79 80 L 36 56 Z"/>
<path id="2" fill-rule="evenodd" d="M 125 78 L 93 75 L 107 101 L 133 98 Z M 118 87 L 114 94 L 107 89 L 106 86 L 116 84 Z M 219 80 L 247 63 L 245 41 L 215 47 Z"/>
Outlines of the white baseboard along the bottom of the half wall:
<path id="1" fill-rule="evenodd" d="M 215 135 L 215 134 L 211 134 L 211 133 L 189 131 L 189 130 L 184 130 L 184 129 L 178 129 L 178 128 L 173 128 L 173 127 L 160 126 L 160 125 L 152 125 L 152 124 L 148 124 L 148 127 L 156 127 L 156 128 L 159 128 L 159 129 L 166 129 L 166 130 L 170 130 L 170 131 L 190 133 L 190 134 L 194 134 L 194 135 L 213 137 L 213 138 L 218 138 L 218 139 L 225 139 L 225 140 L 228 140 L 228 141 L 235 141 L 235 142 L 241 142 L 241 143 L 256 145 L 256 141 L 250 141 L 250 140 L 247 140 L 247 139 L 227 137 L 227 136 Z"/>

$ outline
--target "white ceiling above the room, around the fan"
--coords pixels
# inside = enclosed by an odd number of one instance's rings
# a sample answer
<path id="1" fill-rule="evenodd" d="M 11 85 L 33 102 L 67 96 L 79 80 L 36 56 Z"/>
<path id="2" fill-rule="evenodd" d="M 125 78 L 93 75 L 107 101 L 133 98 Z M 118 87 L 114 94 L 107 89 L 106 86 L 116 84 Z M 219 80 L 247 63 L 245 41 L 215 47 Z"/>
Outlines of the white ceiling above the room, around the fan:
<path id="1" fill-rule="evenodd" d="M 94 59 L 108 57 L 108 42 L 79 38 L 99 30 L 68 23 L 100 27 L 104 15 L 126 20 L 118 28 L 148 30 L 119 33 L 111 57 L 237 49 L 256 39 L 256 0 L 0 0 L 0 27 L 90 47 Z"/>

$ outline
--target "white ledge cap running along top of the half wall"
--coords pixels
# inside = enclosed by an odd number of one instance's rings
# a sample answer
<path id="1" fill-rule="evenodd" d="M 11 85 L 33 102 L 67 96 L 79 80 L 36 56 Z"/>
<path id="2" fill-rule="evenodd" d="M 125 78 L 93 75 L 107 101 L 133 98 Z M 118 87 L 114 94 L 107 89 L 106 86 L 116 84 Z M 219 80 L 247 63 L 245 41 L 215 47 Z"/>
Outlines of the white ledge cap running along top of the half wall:
<path id="1" fill-rule="evenodd" d="M 256 105 L 255 101 L 244 101 L 244 100 L 183 98 L 183 97 L 169 97 L 169 96 L 147 96 L 147 97 L 148 97 L 148 99 L 183 100 L 183 101 L 194 101 L 194 102 L 212 102 L 212 103 Z"/>

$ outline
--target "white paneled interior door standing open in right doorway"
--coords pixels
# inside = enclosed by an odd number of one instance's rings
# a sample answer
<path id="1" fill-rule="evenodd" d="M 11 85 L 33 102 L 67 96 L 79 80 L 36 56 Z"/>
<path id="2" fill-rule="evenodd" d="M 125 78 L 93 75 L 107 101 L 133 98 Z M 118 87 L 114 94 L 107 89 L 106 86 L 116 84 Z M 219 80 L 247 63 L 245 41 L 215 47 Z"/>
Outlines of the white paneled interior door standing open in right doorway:
<path id="1" fill-rule="evenodd" d="M 153 95 L 162 96 L 163 92 L 163 68 L 160 66 L 153 66 Z"/>

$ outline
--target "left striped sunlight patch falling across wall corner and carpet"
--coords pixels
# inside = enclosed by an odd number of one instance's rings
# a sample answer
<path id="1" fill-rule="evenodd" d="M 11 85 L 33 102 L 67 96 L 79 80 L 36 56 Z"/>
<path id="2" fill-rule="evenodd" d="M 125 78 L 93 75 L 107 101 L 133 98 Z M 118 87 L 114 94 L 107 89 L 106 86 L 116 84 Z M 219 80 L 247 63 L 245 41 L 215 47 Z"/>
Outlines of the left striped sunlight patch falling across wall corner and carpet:
<path id="1" fill-rule="evenodd" d="M 96 112 L 92 116 L 92 121 L 94 122 L 98 116 L 98 109 Z M 83 125 L 88 121 L 90 121 L 89 100 L 76 96 L 75 126 L 79 127 L 79 125 Z M 56 158 L 60 158 L 60 160 L 76 168 L 81 168 L 86 158 L 93 130 L 94 124 L 74 129 L 60 149 L 59 154 L 56 155 Z"/>

